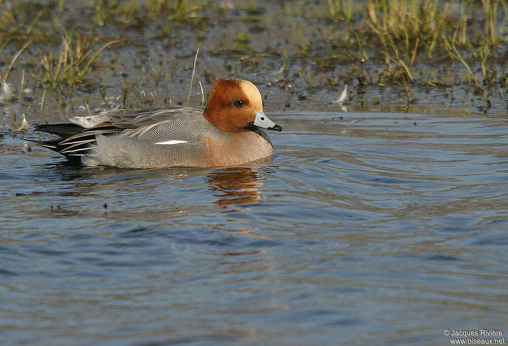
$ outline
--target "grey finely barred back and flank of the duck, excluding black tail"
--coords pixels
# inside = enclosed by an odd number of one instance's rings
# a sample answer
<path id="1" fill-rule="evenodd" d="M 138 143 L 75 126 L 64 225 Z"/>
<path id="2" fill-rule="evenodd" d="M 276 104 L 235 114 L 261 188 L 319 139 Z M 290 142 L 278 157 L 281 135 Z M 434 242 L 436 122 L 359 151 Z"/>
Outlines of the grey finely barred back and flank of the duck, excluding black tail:
<path id="1" fill-rule="evenodd" d="M 125 130 L 116 135 L 96 135 L 81 157 L 84 166 L 155 168 L 206 166 L 204 137 L 218 129 L 195 107 L 154 107 L 119 110 L 98 121 Z"/>

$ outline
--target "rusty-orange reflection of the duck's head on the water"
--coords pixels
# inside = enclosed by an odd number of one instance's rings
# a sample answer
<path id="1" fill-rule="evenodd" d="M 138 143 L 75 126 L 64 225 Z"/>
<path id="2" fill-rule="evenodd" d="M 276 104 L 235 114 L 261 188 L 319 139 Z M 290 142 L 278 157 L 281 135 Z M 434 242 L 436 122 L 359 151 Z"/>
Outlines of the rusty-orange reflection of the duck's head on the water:
<path id="1" fill-rule="evenodd" d="M 220 208 L 227 208 L 232 204 L 255 203 L 261 198 L 259 188 L 263 182 L 259 174 L 250 168 L 228 168 L 209 172 L 206 176 L 210 190 L 217 192 L 213 195 L 217 198 L 214 203 Z"/>

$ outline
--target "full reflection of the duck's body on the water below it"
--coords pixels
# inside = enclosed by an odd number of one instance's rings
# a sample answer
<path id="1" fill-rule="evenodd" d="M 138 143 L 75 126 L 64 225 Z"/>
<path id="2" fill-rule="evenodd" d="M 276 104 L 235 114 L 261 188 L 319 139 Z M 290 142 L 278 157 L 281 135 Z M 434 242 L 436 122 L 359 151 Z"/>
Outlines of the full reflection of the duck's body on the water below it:
<path id="1" fill-rule="evenodd" d="M 269 162 L 270 159 L 263 161 Z M 125 221 L 167 222 L 172 217 L 213 210 L 243 212 L 245 208 L 239 205 L 261 200 L 264 180 L 264 169 L 258 173 L 257 169 L 246 167 L 213 171 L 183 167 L 118 170 L 112 167 L 79 169 L 60 164 L 52 171 L 65 181 L 66 188 L 44 195 L 86 196 L 90 199 L 86 210 L 102 215 L 106 203 L 110 215 L 119 213 Z"/>

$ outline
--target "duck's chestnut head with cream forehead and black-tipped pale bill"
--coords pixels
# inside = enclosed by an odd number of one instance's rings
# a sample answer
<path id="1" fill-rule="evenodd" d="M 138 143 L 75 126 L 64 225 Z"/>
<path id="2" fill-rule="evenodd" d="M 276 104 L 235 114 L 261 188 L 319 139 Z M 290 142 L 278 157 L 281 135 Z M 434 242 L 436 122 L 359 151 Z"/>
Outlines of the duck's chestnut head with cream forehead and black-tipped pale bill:
<path id="1" fill-rule="evenodd" d="M 216 128 L 226 132 L 247 132 L 256 127 L 282 131 L 263 113 L 258 88 L 246 80 L 215 81 L 203 115 Z"/>

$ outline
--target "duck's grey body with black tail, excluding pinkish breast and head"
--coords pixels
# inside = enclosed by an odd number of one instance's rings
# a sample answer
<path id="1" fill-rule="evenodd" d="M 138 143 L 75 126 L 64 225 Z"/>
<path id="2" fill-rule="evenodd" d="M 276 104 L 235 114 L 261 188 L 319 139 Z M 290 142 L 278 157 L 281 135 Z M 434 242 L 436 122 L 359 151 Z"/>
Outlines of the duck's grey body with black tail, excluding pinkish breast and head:
<path id="1" fill-rule="evenodd" d="M 62 140 L 33 141 L 62 155 L 80 156 L 85 166 L 116 167 L 201 166 L 204 161 L 203 128 L 219 139 L 197 107 L 166 106 L 126 109 L 94 116 L 90 128 L 74 123 L 39 125 L 35 129 Z M 174 145 L 155 143 L 176 141 Z"/>

